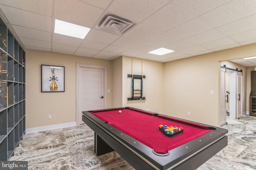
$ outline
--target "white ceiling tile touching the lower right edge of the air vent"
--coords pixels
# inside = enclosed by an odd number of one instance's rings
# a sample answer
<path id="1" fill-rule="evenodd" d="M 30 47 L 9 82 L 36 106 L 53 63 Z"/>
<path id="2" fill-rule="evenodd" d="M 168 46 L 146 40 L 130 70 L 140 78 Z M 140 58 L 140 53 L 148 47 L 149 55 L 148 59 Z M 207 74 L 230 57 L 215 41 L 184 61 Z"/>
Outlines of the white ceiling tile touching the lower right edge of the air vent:
<path id="1" fill-rule="evenodd" d="M 136 39 L 138 41 L 145 42 L 162 33 L 162 31 L 154 28 L 149 29 L 148 25 L 138 24 L 134 26 L 130 31 L 126 32 L 123 36 L 129 39 Z"/>

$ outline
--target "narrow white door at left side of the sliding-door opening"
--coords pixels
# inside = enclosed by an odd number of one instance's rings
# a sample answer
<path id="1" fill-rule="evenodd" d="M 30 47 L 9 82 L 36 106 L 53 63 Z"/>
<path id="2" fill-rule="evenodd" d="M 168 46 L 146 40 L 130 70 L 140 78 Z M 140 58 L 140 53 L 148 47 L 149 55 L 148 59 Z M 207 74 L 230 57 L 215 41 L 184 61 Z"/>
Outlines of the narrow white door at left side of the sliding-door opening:
<path id="1" fill-rule="evenodd" d="M 226 124 L 226 69 L 220 70 L 220 125 Z"/>

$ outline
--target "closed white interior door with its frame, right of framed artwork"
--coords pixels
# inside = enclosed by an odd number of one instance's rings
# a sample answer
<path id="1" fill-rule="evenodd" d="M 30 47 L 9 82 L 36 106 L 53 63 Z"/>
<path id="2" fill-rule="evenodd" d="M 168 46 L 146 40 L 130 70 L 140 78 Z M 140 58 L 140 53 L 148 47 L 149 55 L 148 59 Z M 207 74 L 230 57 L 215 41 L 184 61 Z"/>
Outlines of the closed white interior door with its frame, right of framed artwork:
<path id="1" fill-rule="evenodd" d="M 84 123 L 82 111 L 107 106 L 106 68 L 77 63 L 76 71 L 76 125 L 79 125 Z"/>

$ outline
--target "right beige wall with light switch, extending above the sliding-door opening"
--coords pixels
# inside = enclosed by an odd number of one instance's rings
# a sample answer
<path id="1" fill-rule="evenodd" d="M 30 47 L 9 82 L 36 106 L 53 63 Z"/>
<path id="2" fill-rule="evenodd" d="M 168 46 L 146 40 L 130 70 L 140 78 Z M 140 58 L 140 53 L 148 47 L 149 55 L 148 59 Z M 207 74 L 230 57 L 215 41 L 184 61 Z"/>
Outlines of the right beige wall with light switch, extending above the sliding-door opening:
<path id="1" fill-rule="evenodd" d="M 256 44 L 251 44 L 164 63 L 164 113 L 219 126 L 220 61 L 254 56 L 255 49 Z M 210 95 L 210 90 L 214 90 L 214 95 Z"/>

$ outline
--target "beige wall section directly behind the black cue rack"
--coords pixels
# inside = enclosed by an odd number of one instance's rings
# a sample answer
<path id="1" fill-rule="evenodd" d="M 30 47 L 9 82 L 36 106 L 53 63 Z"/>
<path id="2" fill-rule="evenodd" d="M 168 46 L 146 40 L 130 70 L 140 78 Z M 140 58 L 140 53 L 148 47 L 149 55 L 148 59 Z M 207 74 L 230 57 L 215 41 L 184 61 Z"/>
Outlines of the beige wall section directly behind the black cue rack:
<path id="1" fill-rule="evenodd" d="M 149 109 L 149 111 L 162 113 L 163 63 L 123 56 L 122 65 L 122 106 Z M 143 97 L 146 100 L 127 100 L 131 97 L 131 78 L 128 78 L 127 75 L 132 73 L 146 76 L 143 79 Z"/>

